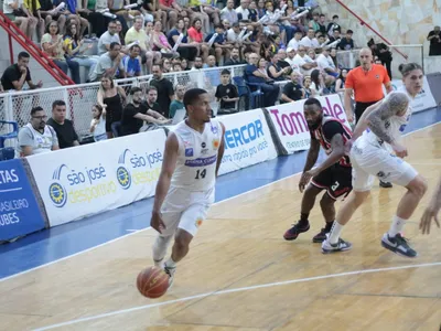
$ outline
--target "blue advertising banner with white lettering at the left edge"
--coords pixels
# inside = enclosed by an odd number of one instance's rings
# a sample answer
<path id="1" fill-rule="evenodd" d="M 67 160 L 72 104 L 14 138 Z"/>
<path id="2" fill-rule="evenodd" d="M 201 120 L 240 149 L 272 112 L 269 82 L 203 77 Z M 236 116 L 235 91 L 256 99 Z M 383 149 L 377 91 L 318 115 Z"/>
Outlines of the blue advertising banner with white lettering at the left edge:
<path id="1" fill-rule="evenodd" d="M 31 183 L 20 160 L 0 162 L 0 242 L 44 228 Z"/>

